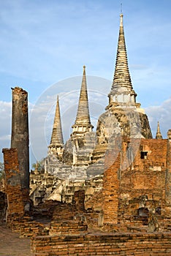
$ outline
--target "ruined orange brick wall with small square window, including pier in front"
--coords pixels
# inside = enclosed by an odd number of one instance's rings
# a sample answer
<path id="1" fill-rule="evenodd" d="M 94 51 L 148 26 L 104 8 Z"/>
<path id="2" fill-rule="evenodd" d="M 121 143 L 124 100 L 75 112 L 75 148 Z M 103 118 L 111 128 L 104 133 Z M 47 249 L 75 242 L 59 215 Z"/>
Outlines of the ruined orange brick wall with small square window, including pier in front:
<path id="1" fill-rule="evenodd" d="M 171 202 L 165 200 L 169 146 L 168 140 L 132 139 L 132 143 L 123 142 L 120 153 L 116 147 L 107 152 L 102 190 L 104 230 L 170 230 Z"/>

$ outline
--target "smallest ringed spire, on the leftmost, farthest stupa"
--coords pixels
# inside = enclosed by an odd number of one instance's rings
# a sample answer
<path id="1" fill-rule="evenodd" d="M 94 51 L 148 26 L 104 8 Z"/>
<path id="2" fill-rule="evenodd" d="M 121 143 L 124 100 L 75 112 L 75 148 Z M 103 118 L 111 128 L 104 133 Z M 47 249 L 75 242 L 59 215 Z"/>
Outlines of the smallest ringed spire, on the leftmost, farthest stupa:
<path id="1" fill-rule="evenodd" d="M 59 100 L 57 97 L 56 102 L 56 113 L 55 118 L 53 122 L 53 132 L 50 140 L 50 146 L 49 148 L 56 148 L 56 147 L 63 147 L 64 146 L 64 139 L 61 129 L 61 114 L 60 114 L 60 108 L 59 108 Z"/>

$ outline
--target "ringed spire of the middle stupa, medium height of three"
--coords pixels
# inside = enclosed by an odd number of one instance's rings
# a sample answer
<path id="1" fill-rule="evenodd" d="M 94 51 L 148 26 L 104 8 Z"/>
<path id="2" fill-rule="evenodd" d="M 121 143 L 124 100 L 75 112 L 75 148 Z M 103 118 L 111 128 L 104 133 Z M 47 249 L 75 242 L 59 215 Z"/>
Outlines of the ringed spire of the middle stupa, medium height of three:
<path id="1" fill-rule="evenodd" d="M 75 119 L 75 124 L 72 128 L 75 127 L 87 127 L 93 128 L 90 120 L 89 108 L 88 108 L 88 92 L 87 92 L 87 83 L 86 83 L 86 66 L 83 66 L 83 79 L 80 89 L 80 98 L 77 108 L 77 116 Z"/>

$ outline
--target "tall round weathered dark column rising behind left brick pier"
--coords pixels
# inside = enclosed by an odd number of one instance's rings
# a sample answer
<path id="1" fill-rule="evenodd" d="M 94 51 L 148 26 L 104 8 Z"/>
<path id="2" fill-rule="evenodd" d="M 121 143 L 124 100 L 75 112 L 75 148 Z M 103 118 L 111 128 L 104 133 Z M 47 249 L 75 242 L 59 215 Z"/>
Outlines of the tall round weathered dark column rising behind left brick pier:
<path id="1" fill-rule="evenodd" d="M 19 87 L 12 89 L 11 148 L 17 148 L 21 187 L 29 189 L 28 94 Z"/>

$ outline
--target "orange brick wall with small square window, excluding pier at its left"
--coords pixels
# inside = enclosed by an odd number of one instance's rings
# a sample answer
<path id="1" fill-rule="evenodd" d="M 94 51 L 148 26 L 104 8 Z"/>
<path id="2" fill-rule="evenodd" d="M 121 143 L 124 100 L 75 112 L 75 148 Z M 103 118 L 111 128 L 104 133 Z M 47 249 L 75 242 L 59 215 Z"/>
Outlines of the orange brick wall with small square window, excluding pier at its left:
<path id="1" fill-rule="evenodd" d="M 166 160 L 167 140 L 140 141 L 134 161 L 121 170 L 118 209 L 121 224 L 146 226 L 150 231 L 165 228 L 161 223 L 165 216 Z"/>

